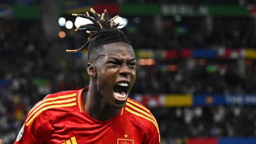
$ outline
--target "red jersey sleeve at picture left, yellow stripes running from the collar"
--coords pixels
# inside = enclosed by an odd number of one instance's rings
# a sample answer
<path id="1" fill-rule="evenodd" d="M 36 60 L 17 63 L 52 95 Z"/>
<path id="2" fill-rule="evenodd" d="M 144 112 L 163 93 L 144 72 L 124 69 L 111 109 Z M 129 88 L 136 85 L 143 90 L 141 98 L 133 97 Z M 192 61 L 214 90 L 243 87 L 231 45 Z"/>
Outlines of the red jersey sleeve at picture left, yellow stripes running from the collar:
<path id="1" fill-rule="evenodd" d="M 14 144 L 47 143 L 52 130 L 52 120 L 60 113 L 76 110 L 77 93 L 78 91 L 62 91 L 46 95 L 28 111 L 24 125 Z M 74 109 L 70 107 L 74 107 Z"/>

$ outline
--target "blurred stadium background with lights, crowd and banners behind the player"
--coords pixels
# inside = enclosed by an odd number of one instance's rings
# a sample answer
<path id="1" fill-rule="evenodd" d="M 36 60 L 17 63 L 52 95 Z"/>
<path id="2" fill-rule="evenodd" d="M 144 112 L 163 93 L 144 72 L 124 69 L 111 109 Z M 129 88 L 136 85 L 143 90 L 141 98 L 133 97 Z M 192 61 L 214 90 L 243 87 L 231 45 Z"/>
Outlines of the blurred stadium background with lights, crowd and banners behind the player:
<path id="1" fill-rule="evenodd" d="M 158 120 L 162 143 L 256 143 L 254 0 L 0 0 L 0 137 L 13 143 L 46 94 L 88 85 L 72 13 L 123 17 L 137 55 L 131 97 Z"/>

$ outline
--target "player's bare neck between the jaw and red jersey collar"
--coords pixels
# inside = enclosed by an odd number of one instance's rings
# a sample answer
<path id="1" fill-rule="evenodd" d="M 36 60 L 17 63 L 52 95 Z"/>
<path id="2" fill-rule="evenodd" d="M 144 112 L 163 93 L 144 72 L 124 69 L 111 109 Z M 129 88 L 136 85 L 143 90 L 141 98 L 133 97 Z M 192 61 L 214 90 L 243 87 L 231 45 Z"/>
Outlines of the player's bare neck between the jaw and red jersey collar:
<path id="1" fill-rule="evenodd" d="M 96 91 L 94 87 L 89 87 L 88 91 L 83 92 L 82 101 L 84 110 L 95 120 L 110 120 L 120 112 L 120 109 L 107 104 L 103 95 Z"/>

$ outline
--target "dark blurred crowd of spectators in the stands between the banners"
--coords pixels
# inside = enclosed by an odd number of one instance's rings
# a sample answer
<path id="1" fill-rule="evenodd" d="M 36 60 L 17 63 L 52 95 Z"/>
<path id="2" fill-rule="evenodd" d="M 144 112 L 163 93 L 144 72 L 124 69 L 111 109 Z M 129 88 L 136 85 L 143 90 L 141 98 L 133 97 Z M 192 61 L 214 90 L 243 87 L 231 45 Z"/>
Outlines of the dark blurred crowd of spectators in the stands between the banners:
<path id="1" fill-rule="evenodd" d="M 150 18 L 149 18 L 150 19 Z M 124 29 L 135 49 L 182 49 L 183 47 L 256 47 L 253 25 L 248 21 L 219 20 L 214 31 L 200 25 L 175 23 L 168 18 L 163 23 L 163 33 L 154 28 L 134 23 Z M 188 18 L 188 21 L 189 18 Z M 230 23 L 231 25 L 227 24 Z M 223 25 L 228 25 L 223 27 Z M 168 28 L 172 27 L 172 28 Z M 14 31 L 12 31 L 14 32 Z M 84 37 L 76 38 L 82 41 Z M 65 60 L 55 67 L 47 63 L 50 43 L 43 37 L 23 33 L 0 34 L 0 137 L 11 143 L 23 124 L 31 106 L 46 94 L 79 89 L 88 85 L 89 77 L 84 65 L 70 68 Z M 65 50 L 66 47 L 63 47 Z M 132 94 L 255 94 L 256 66 L 248 60 L 245 77 L 236 72 L 235 60 L 213 60 L 218 68 L 207 71 L 207 63 L 197 59 L 187 71 L 183 60 L 174 60 L 175 71 L 165 71 L 158 65 L 137 66 L 137 79 Z M 81 62 L 77 59 L 75 64 Z M 162 139 L 168 137 L 256 136 L 255 106 L 152 108 L 158 120 Z M 242 126 L 242 127 L 241 127 Z M 244 130 L 241 130 L 244 129 Z"/>

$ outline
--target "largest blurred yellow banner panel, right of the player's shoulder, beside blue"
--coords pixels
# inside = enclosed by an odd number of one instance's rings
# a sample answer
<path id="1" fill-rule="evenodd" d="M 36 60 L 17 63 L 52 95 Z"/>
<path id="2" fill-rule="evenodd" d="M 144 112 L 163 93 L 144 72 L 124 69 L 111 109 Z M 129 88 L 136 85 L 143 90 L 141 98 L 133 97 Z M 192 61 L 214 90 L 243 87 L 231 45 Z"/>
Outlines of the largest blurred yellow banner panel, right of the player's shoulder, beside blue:
<path id="1" fill-rule="evenodd" d="M 190 94 L 165 95 L 164 107 L 190 107 L 193 103 Z"/>

